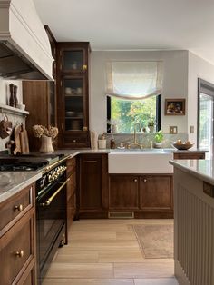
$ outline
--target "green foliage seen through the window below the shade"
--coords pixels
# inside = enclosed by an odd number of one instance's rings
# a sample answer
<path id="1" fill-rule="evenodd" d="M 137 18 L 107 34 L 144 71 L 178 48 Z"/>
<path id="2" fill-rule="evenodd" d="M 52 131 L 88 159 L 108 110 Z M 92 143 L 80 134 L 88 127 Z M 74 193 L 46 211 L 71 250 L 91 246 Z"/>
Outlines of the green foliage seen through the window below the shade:
<path id="1" fill-rule="evenodd" d="M 119 133 L 132 133 L 136 123 L 147 128 L 156 120 L 156 96 L 133 101 L 112 97 L 111 120 L 117 123 Z"/>

